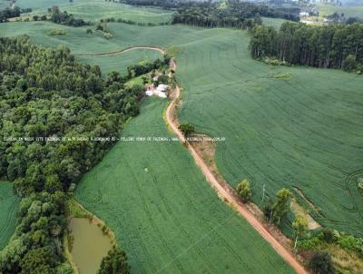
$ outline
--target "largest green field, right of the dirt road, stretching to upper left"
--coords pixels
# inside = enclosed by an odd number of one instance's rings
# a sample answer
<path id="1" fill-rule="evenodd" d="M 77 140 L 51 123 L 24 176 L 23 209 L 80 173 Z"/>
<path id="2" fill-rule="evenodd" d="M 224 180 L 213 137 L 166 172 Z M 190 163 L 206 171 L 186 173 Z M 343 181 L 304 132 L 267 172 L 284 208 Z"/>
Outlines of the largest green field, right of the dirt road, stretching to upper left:
<path id="1" fill-rule="evenodd" d="M 114 38 L 107 41 L 98 34 L 83 39 L 85 28 L 55 26 L 1 24 L 0 32 L 29 33 L 40 44 L 64 43 L 76 55 L 177 45 L 176 76 L 184 88 L 181 121 L 195 124 L 198 132 L 226 137 L 216 152 L 225 179 L 232 186 L 249 179 L 261 207 L 263 184 L 267 197 L 288 187 L 320 224 L 363 235 L 357 187 L 363 160 L 361 76 L 254 61 L 249 35 L 239 30 L 109 24 Z M 57 27 L 68 34 L 44 32 Z"/>

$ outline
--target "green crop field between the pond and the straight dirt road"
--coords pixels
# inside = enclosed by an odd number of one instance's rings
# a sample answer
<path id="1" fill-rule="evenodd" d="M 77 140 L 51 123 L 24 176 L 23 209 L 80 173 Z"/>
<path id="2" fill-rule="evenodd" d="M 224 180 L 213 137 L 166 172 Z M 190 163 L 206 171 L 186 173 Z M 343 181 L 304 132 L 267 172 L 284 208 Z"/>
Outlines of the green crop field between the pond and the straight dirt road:
<path id="1" fill-rule="evenodd" d="M 123 137 L 172 138 L 165 105 L 147 99 Z M 75 198 L 115 231 L 133 273 L 292 272 L 217 198 L 180 142 L 118 142 Z"/>

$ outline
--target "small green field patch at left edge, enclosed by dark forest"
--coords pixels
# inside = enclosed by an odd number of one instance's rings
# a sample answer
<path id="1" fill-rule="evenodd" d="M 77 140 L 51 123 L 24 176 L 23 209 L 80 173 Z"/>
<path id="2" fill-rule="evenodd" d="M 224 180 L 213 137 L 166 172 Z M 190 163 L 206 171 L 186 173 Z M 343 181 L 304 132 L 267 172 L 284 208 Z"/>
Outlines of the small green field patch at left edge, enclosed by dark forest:
<path id="1" fill-rule="evenodd" d="M 0 181 L 0 250 L 15 231 L 16 210 L 19 201 L 13 193 L 13 184 Z"/>

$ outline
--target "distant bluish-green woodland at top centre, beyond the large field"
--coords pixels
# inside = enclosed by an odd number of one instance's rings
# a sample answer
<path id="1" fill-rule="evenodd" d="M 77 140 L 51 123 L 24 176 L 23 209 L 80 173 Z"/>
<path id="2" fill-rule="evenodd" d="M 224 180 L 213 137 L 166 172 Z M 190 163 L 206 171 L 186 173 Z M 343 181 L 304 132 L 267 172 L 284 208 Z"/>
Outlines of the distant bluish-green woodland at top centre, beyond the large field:
<path id="1" fill-rule="evenodd" d="M 262 24 L 260 15 L 299 21 L 298 15 L 271 9 L 266 5 L 228 0 L 223 4 L 202 2 L 183 5 L 172 16 L 172 24 L 250 29 L 254 24 Z"/>

